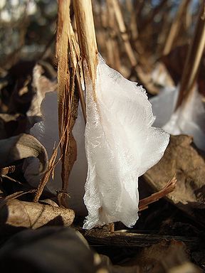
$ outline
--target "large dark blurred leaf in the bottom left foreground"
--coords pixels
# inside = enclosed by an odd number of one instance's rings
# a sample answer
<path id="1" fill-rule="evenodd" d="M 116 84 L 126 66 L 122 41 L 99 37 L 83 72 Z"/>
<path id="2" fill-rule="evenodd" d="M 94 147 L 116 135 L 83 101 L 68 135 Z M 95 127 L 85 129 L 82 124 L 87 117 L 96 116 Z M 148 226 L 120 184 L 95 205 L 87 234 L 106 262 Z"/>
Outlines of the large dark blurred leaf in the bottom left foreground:
<path id="1" fill-rule="evenodd" d="M 100 257 L 80 232 L 65 227 L 23 230 L 0 250 L 1 272 L 95 273 Z M 102 268 L 101 268 L 102 269 Z M 108 273 L 107 270 L 104 271 Z"/>

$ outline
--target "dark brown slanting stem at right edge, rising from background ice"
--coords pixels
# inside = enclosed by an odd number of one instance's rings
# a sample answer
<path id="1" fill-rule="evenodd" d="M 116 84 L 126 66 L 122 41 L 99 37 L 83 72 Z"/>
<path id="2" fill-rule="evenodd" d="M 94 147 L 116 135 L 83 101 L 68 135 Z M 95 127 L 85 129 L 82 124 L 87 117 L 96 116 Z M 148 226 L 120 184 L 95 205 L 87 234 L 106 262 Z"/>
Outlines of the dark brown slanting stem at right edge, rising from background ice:
<path id="1" fill-rule="evenodd" d="M 182 74 L 182 80 L 180 83 L 179 97 L 177 99 L 177 105 L 175 110 L 182 105 L 182 102 L 186 103 L 191 90 L 193 90 L 194 83 L 196 82 L 196 76 L 199 71 L 199 65 L 201 56 L 204 51 L 205 45 L 205 2 L 201 1 L 201 8 L 199 11 L 198 21 L 196 22 L 196 28 L 194 37 L 189 45 L 189 51 L 187 53 L 186 62 Z"/>

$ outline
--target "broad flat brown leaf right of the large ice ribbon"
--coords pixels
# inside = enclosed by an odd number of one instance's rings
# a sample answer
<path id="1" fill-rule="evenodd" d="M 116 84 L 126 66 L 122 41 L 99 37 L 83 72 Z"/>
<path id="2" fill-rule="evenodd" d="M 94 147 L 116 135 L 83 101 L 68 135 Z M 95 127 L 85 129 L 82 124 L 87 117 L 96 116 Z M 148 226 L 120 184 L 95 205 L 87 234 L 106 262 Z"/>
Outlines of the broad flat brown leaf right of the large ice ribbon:
<path id="1" fill-rule="evenodd" d="M 192 142 L 187 135 L 171 136 L 162 159 L 142 177 L 154 191 L 159 191 L 176 173 L 177 186 L 167 200 L 205 225 L 205 161 Z"/>

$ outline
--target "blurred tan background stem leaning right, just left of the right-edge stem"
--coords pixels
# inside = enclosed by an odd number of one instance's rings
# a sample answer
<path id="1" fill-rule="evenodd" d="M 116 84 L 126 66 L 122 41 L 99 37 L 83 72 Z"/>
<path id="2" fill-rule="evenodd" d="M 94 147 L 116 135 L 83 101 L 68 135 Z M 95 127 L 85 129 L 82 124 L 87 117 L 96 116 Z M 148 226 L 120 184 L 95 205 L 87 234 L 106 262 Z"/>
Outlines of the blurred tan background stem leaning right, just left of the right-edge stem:
<path id="1" fill-rule="evenodd" d="M 186 9 L 189 6 L 190 0 L 182 1 L 179 6 L 179 10 L 177 11 L 176 17 L 172 22 L 171 29 L 169 31 L 169 35 L 167 37 L 167 41 L 164 45 L 163 55 L 169 54 L 172 49 L 172 45 L 174 43 L 174 39 L 177 37 L 179 33 L 179 29 L 182 26 L 182 17 L 186 15 Z"/>

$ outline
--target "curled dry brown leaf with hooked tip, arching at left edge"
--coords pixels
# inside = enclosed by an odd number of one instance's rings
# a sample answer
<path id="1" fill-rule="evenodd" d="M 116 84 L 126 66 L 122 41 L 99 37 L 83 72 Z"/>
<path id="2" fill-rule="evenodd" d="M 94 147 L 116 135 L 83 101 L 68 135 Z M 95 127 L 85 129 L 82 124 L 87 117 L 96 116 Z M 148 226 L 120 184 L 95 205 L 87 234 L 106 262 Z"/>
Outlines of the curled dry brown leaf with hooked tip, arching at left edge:
<path id="1" fill-rule="evenodd" d="M 0 141 L 0 166 L 4 167 L 14 161 L 33 156 L 39 159 L 39 172 L 43 173 L 48 167 L 48 155 L 44 146 L 31 134 L 19 134 Z"/>

